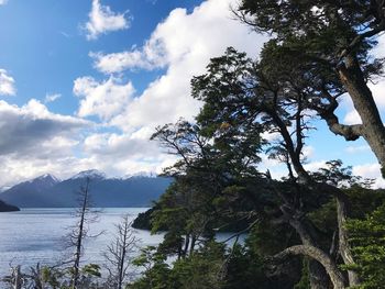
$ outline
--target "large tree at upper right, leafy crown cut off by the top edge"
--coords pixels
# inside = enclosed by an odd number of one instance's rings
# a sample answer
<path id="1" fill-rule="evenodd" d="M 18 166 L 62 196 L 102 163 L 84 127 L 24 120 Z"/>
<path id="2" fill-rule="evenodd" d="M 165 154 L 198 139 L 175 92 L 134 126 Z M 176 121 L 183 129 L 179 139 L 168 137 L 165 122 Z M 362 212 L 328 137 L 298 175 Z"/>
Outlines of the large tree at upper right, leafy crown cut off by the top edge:
<path id="1" fill-rule="evenodd" d="M 383 60 L 372 57 L 375 36 L 385 30 L 384 2 L 243 0 L 235 12 L 257 32 L 272 33 L 275 56 L 283 74 L 293 71 L 309 80 L 312 109 L 330 131 L 346 141 L 364 137 L 385 167 L 385 129 L 367 81 L 382 74 Z M 272 54 L 271 54 L 272 56 Z M 348 92 L 362 124 L 339 122 L 337 99 Z M 382 170 L 385 176 L 384 169 Z"/>

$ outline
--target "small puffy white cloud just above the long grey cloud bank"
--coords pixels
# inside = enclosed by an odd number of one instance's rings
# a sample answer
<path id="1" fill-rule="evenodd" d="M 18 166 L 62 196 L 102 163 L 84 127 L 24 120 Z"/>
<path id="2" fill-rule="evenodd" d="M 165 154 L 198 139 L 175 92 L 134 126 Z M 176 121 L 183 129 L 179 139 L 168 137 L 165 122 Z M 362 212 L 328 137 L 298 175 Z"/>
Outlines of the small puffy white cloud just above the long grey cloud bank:
<path id="1" fill-rule="evenodd" d="M 98 115 L 102 120 L 109 120 L 120 113 L 135 91 L 130 81 L 121 82 L 113 77 L 101 82 L 92 77 L 77 78 L 73 90 L 75 96 L 81 98 L 78 115 Z"/>

